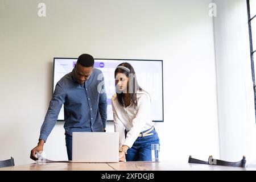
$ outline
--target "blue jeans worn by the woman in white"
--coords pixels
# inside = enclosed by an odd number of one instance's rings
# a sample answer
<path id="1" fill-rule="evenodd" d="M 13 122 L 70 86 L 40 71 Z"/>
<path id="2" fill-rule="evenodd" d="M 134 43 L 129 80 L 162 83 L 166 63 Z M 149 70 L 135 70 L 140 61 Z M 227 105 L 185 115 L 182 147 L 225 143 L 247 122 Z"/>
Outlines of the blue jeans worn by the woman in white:
<path id="1" fill-rule="evenodd" d="M 133 146 L 127 150 L 126 161 L 151 161 L 151 144 L 159 144 L 155 129 L 150 136 L 138 137 Z"/>

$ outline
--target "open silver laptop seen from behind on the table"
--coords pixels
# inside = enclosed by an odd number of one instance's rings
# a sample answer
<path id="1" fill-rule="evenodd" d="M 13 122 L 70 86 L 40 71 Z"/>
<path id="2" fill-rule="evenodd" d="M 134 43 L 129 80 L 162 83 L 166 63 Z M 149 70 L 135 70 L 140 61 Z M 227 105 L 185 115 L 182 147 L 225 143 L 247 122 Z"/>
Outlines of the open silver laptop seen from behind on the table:
<path id="1" fill-rule="evenodd" d="M 72 162 L 115 163 L 119 158 L 118 133 L 73 132 Z"/>

